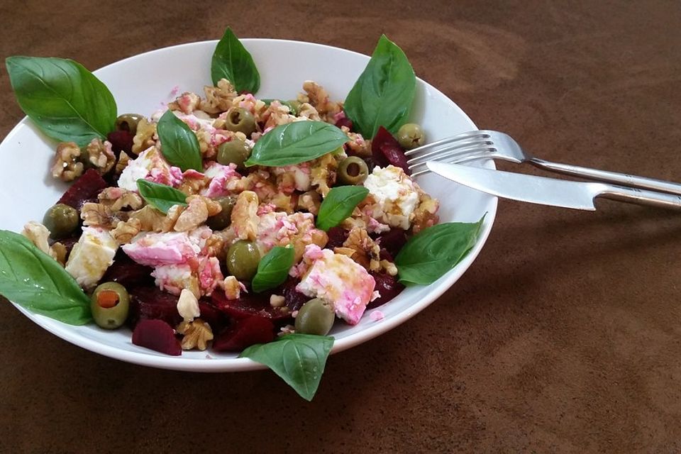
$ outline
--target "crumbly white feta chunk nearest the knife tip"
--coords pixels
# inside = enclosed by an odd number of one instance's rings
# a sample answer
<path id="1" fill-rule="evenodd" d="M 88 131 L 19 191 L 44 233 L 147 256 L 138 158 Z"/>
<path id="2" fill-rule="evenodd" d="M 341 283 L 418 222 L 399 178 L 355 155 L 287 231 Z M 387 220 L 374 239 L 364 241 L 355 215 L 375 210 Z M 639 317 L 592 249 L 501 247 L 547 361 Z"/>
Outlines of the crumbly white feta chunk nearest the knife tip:
<path id="1" fill-rule="evenodd" d="M 392 227 L 407 230 L 419 204 L 419 192 L 409 175 L 399 167 L 374 167 L 364 182 L 376 203 L 367 207 L 367 214 Z"/>

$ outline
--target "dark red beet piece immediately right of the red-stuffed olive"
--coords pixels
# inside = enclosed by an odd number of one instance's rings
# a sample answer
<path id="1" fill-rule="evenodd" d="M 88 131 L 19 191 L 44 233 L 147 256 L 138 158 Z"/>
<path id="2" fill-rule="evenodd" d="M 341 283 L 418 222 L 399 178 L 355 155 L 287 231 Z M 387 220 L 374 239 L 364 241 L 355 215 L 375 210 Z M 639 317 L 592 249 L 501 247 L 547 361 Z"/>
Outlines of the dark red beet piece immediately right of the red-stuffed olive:
<path id="1" fill-rule="evenodd" d="M 170 326 L 177 326 L 182 316 L 177 312 L 179 297 L 163 292 L 153 285 L 133 287 L 130 293 L 128 323 L 135 326 L 142 320 L 162 320 Z"/>

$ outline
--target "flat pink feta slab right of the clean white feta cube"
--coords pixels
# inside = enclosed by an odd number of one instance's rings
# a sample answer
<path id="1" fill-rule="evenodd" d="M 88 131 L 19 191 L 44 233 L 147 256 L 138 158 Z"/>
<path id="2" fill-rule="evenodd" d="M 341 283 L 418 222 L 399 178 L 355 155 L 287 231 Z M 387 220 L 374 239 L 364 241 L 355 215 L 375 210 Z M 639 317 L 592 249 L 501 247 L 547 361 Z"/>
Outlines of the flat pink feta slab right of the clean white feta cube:
<path id="1" fill-rule="evenodd" d="M 123 251 L 140 265 L 177 265 L 196 258 L 201 251 L 199 242 L 186 232 L 141 233 Z"/>

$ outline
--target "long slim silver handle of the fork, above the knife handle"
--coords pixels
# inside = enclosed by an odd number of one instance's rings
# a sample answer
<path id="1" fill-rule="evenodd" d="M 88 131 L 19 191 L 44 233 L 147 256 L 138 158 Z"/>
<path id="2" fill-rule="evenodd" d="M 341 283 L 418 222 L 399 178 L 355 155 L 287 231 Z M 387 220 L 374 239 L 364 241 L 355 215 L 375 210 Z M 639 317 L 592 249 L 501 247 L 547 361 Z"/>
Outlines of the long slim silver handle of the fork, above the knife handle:
<path id="1" fill-rule="evenodd" d="M 653 189 L 654 191 L 681 195 L 681 184 L 666 182 L 662 179 L 636 177 L 635 175 L 608 172 L 607 170 L 589 169 L 589 167 L 580 167 L 578 165 L 559 164 L 558 162 L 545 161 L 537 157 L 531 158 L 529 162 L 540 169 L 572 175 L 573 177 L 582 177 L 600 182 L 609 182 L 642 189 Z"/>

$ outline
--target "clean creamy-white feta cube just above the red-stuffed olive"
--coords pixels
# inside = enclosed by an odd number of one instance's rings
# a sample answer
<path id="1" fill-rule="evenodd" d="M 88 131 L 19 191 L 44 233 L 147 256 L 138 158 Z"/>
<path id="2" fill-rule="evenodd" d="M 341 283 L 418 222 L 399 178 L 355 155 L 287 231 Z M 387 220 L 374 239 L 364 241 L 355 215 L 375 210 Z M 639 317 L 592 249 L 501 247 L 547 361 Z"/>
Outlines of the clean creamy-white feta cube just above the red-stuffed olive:
<path id="1" fill-rule="evenodd" d="M 84 227 L 78 243 L 73 245 L 65 269 L 81 287 L 92 288 L 114 263 L 116 250 L 118 243 L 109 231 Z"/>

